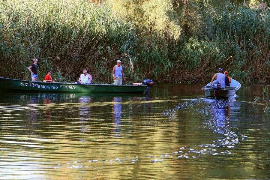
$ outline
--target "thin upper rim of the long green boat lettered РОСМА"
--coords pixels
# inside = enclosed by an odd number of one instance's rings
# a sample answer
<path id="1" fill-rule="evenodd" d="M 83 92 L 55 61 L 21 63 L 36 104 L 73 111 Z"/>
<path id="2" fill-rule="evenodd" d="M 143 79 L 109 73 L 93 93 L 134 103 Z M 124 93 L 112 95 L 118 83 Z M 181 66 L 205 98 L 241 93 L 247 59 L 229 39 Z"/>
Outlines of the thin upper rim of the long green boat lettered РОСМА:
<path id="1" fill-rule="evenodd" d="M 69 82 L 42 82 L 42 81 L 28 81 L 28 80 L 20 80 L 20 79 L 11 79 L 6 77 L 0 77 L 0 79 L 7 79 L 12 81 L 23 81 L 23 82 L 29 82 L 29 83 L 43 83 L 46 85 L 53 85 L 53 84 L 66 84 L 66 85 L 90 85 L 90 86 L 116 86 L 114 84 L 75 84 L 75 83 L 69 83 Z M 146 87 L 147 85 L 117 85 L 118 87 Z"/>

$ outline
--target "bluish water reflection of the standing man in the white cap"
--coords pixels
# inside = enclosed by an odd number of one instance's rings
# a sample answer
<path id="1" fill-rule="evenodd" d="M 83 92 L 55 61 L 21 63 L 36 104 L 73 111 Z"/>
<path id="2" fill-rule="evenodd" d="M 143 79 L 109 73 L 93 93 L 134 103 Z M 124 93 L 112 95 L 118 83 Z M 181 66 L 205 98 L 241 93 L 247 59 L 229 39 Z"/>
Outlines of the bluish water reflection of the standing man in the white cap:
<path id="1" fill-rule="evenodd" d="M 121 136 L 121 113 L 122 113 L 122 97 L 114 97 L 113 102 L 113 132 L 115 137 Z"/>

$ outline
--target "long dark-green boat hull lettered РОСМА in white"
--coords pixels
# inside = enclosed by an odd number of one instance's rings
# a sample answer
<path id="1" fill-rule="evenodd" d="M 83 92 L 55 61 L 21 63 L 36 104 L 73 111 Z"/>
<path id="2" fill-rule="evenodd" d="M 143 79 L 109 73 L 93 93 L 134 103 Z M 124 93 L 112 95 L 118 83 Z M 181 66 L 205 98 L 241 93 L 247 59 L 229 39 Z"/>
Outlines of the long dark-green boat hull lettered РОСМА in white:
<path id="1" fill-rule="evenodd" d="M 32 82 L 0 77 L 2 91 L 41 92 L 101 92 L 101 93 L 143 93 L 147 85 L 74 84 L 62 82 Z"/>

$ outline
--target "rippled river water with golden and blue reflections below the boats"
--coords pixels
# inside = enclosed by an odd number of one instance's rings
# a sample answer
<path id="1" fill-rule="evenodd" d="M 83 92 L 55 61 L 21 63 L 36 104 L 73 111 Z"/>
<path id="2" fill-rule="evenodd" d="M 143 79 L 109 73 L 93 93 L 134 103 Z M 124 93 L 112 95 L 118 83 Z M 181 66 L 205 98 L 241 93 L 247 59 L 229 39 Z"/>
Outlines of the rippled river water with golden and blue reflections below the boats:
<path id="1" fill-rule="evenodd" d="M 262 88 L 1 93 L 0 179 L 270 179 L 270 117 L 249 103 Z"/>

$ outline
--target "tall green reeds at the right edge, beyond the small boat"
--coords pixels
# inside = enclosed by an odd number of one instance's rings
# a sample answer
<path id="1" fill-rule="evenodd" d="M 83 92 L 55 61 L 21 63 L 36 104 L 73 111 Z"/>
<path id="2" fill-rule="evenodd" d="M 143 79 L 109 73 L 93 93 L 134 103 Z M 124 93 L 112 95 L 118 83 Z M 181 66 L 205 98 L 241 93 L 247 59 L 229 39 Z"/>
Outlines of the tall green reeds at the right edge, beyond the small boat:
<path id="1" fill-rule="evenodd" d="M 215 17 L 215 33 L 233 56 L 231 76 L 246 82 L 269 81 L 270 13 L 228 6 Z"/>

